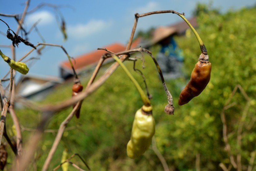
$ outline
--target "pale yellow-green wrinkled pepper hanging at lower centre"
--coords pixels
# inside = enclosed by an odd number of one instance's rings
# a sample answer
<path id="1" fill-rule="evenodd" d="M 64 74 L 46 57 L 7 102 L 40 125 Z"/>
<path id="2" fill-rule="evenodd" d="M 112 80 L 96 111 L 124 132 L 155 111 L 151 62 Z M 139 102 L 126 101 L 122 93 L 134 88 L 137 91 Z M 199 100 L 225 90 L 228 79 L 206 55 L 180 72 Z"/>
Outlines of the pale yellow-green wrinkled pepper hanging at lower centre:
<path id="1" fill-rule="evenodd" d="M 152 110 L 151 110 L 152 111 Z M 152 113 L 141 109 L 135 114 L 130 141 L 127 144 L 127 155 L 134 159 L 142 155 L 150 146 L 155 134 L 155 120 Z"/>

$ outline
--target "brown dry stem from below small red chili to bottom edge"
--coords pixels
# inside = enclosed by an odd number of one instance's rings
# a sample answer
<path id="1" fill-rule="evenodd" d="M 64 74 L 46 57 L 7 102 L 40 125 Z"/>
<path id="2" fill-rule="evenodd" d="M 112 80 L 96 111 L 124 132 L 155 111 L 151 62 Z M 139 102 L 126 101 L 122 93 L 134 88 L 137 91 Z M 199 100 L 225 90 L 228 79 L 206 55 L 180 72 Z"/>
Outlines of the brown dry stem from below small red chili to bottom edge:
<path id="1" fill-rule="evenodd" d="M 76 104 L 76 108 L 79 108 L 79 106 L 81 105 L 81 103 L 82 103 L 82 101 L 79 101 L 79 102 Z M 77 107 L 77 106 L 78 106 L 78 107 Z M 54 155 L 54 153 L 55 153 L 55 151 L 56 151 L 56 149 L 57 149 L 57 147 L 58 147 L 58 145 L 59 145 L 59 143 L 60 143 L 60 139 L 61 139 L 61 137 L 62 137 L 62 135 L 63 135 L 63 133 L 64 133 L 64 130 L 65 130 L 65 128 L 66 128 L 68 122 L 72 119 L 72 117 L 74 116 L 75 113 L 76 113 L 76 112 L 73 112 L 73 111 L 72 111 L 72 112 L 68 115 L 68 117 L 66 117 L 66 119 L 60 124 L 60 128 L 59 128 L 59 130 L 58 130 L 58 132 L 57 132 L 57 135 L 56 135 L 56 137 L 55 137 L 55 140 L 54 140 L 54 142 L 53 142 L 53 144 L 52 144 L 52 148 L 51 148 L 51 150 L 49 151 L 46 160 L 44 161 L 43 168 L 42 168 L 43 171 L 48 169 L 49 164 L 50 164 L 50 162 L 51 162 L 51 160 L 52 160 L 52 157 L 53 157 L 53 155 Z"/>

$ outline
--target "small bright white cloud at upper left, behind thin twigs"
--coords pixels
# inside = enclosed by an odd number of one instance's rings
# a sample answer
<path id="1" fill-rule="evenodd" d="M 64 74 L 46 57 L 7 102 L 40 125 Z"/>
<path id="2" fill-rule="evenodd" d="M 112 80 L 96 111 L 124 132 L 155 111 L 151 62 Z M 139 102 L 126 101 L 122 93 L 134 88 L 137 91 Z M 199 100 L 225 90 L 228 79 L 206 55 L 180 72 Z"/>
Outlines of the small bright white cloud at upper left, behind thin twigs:
<path id="1" fill-rule="evenodd" d="M 54 21 L 54 16 L 48 11 L 40 11 L 30 15 L 27 15 L 26 23 L 32 25 L 40 20 L 39 25 L 47 25 Z"/>

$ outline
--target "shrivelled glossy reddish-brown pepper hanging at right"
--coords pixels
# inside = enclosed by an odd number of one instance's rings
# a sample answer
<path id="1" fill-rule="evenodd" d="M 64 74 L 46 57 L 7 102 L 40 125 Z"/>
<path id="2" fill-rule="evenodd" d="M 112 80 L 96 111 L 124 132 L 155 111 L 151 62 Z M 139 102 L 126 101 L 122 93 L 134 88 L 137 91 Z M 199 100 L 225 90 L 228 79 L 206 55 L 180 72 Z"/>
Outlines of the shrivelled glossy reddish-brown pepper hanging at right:
<path id="1" fill-rule="evenodd" d="M 198 61 L 191 73 L 191 78 L 186 87 L 181 91 L 178 104 L 184 105 L 192 98 L 198 96 L 209 83 L 212 65 L 210 62 Z"/>

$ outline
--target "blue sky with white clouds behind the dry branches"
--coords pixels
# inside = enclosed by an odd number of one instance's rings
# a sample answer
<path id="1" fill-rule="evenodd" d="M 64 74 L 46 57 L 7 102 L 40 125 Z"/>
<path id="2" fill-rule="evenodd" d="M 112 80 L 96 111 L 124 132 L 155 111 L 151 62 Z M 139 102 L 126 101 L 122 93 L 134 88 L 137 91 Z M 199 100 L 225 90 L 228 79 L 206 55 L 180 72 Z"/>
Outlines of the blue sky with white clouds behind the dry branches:
<path id="1" fill-rule="evenodd" d="M 39 32 L 43 35 L 47 43 L 59 44 L 64 46 L 68 54 L 72 57 L 96 50 L 98 47 L 120 42 L 124 45 L 127 43 L 134 22 L 135 13 L 146 13 L 156 10 L 176 10 L 184 12 L 186 18 L 192 16 L 192 11 L 195 9 L 197 2 L 209 3 L 210 0 L 97 0 L 97 1 L 52 1 L 52 0 L 31 0 L 29 10 L 39 5 L 42 2 L 54 3 L 59 5 L 69 5 L 70 7 L 59 8 L 63 14 L 68 40 L 63 41 L 63 36 L 60 32 L 58 22 L 56 20 L 56 10 L 50 7 L 43 7 L 35 11 L 33 14 L 27 15 L 24 28 L 27 30 L 32 24 L 40 18 L 37 26 Z M 17 14 L 22 13 L 24 3 L 20 0 L 2 1 L 0 13 Z M 233 9 L 237 10 L 245 6 L 255 5 L 253 0 L 213 0 L 213 7 L 218 7 L 221 12 Z M 12 30 L 16 30 L 17 24 L 14 18 L 0 16 L 6 21 Z M 60 20 L 60 19 L 59 19 Z M 157 14 L 143 18 L 139 18 L 137 31 L 147 30 L 151 27 L 166 26 L 175 22 L 181 21 L 175 14 Z M 5 24 L 0 24 L 0 31 L 6 33 L 7 27 Z M 29 41 L 33 44 L 42 42 L 35 30 L 28 36 Z M 9 45 L 11 42 L 2 34 L 0 35 L 0 45 Z M 11 56 L 10 49 L 0 47 L 1 51 L 7 56 Z M 16 48 L 17 59 L 26 54 L 30 47 L 20 43 L 19 48 Z M 32 53 L 28 58 L 37 57 L 39 60 L 30 61 L 28 66 L 31 75 L 49 75 L 59 76 L 59 64 L 61 61 L 67 60 L 64 52 L 57 47 L 46 47 L 42 55 Z M 0 77 L 5 75 L 9 70 L 8 65 L 0 60 Z"/>

